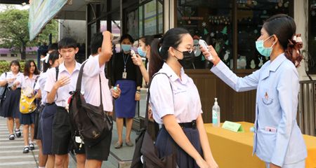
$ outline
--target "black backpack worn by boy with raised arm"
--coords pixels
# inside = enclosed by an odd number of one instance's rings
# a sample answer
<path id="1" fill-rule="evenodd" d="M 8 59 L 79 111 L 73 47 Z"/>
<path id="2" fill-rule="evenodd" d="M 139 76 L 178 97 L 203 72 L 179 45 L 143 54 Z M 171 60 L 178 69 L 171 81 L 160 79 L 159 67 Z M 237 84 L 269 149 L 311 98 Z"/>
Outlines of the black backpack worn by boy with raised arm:
<path id="1" fill-rule="evenodd" d="M 86 62 L 84 62 L 86 64 Z M 81 80 L 84 71 L 82 64 L 79 71 L 76 90 L 72 92 L 69 104 L 72 137 L 79 135 L 87 146 L 94 146 L 112 132 L 112 118 L 103 111 L 102 94 L 100 92 L 100 106 L 87 104 L 81 94 Z M 101 90 L 101 78 L 99 74 Z M 93 86 L 91 86 L 93 87 Z"/>

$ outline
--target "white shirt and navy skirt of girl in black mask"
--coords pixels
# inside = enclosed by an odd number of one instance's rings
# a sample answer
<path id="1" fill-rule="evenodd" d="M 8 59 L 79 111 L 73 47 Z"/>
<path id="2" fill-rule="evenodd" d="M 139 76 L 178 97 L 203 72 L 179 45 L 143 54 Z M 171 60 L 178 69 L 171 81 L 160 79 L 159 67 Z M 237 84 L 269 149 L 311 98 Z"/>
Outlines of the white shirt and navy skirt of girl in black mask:
<path id="1" fill-rule="evenodd" d="M 150 106 L 154 120 L 156 123 L 163 124 L 164 116 L 175 116 L 191 144 L 202 155 L 199 130 L 195 123 L 202 113 L 202 106 L 195 83 L 183 69 L 180 71 L 180 79 L 166 63 L 158 73 L 166 73 L 166 75 L 157 74 L 150 85 Z M 176 149 L 177 164 L 181 168 L 198 167 L 195 160 L 173 141 L 164 125 L 158 133 L 155 146 L 157 146 L 159 157 L 170 155 Z"/>

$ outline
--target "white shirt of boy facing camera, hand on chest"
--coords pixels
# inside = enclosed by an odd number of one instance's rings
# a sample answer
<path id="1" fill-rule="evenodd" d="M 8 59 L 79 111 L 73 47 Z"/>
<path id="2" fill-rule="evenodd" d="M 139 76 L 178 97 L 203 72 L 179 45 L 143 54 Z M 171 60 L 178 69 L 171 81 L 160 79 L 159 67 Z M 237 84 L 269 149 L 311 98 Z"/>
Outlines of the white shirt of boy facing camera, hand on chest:
<path id="1" fill-rule="evenodd" d="M 77 78 L 79 75 L 80 67 L 81 67 L 81 64 L 76 62 L 74 71 L 72 72 L 72 74 L 70 74 L 67 71 L 64 62 L 59 65 L 58 79 L 60 79 L 62 76 L 68 76 L 70 78 L 70 83 L 58 88 L 57 93 L 55 95 L 55 104 L 57 106 L 65 107 L 68 102 L 69 97 L 71 96 L 69 93 L 76 90 Z M 44 90 L 46 92 L 51 92 L 51 90 L 53 89 L 53 85 L 55 85 L 56 83 L 56 69 L 55 68 L 48 69 L 46 73 L 47 73 L 46 74 L 47 80 L 45 83 Z M 47 102 L 47 97 L 46 97 L 46 102 Z"/>

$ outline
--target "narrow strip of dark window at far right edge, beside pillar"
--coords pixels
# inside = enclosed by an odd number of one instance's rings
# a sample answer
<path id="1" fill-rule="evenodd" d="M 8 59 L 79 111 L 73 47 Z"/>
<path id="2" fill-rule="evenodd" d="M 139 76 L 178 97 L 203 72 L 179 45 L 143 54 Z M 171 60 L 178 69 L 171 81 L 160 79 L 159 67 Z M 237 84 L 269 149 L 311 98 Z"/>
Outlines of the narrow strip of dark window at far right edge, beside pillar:
<path id="1" fill-rule="evenodd" d="M 308 59 L 308 73 L 316 74 L 316 0 L 310 0 L 309 10 L 309 26 L 308 26 L 308 55 L 304 55 Z"/>

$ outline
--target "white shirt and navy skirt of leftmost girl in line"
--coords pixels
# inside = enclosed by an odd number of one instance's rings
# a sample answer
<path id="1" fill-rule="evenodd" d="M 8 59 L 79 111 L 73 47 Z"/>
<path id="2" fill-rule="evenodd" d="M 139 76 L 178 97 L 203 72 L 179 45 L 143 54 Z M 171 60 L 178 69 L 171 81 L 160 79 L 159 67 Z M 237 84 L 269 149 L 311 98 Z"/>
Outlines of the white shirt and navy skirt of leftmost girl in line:
<path id="1" fill-rule="evenodd" d="M 6 74 L 2 73 L 0 80 L 6 80 L 9 78 L 20 78 L 23 73 L 18 72 L 16 75 L 12 71 L 8 71 Z M 15 79 L 16 80 L 16 79 Z M 14 83 L 15 81 L 13 81 Z M 20 118 L 20 97 L 21 97 L 21 85 L 17 86 L 16 90 L 12 90 L 13 83 L 8 83 L 8 91 L 6 92 L 6 99 L 1 104 L 1 116 L 4 118 Z"/>

